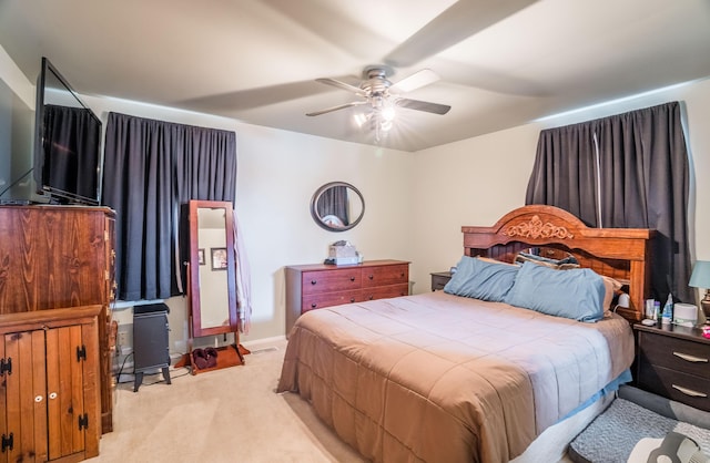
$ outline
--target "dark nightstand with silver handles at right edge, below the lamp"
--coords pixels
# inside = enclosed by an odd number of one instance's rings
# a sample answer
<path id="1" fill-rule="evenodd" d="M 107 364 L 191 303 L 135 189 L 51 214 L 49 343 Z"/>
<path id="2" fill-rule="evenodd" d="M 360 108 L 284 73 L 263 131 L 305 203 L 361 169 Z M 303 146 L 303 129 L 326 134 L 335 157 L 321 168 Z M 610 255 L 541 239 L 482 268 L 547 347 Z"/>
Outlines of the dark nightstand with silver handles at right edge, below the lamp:
<path id="1" fill-rule="evenodd" d="M 698 328 L 635 325 L 640 389 L 710 411 L 710 339 Z"/>

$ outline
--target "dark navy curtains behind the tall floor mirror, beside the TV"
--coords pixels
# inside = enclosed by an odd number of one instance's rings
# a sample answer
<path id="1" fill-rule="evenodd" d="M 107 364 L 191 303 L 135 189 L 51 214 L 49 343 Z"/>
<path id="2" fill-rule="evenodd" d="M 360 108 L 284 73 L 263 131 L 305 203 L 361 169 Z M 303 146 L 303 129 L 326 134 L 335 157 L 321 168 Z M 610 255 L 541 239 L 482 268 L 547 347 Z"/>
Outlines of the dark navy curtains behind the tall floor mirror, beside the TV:
<path id="1" fill-rule="evenodd" d="M 236 134 L 110 113 L 103 172 L 103 204 L 116 213 L 118 298 L 183 294 L 182 206 L 234 203 Z"/>

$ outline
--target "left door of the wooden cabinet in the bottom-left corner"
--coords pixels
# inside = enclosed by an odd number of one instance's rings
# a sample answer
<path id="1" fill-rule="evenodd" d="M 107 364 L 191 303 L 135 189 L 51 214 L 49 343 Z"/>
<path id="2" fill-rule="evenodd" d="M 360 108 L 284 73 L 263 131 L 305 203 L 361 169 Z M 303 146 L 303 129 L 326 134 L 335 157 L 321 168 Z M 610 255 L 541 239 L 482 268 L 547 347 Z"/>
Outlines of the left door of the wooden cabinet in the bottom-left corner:
<path id="1" fill-rule="evenodd" d="M 2 358 L 12 364 L 0 387 L 4 392 L 0 392 L 0 403 L 7 418 L 2 434 L 12 436 L 12 446 L 6 449 L 4 455 L 8 462 L 47 461 L 44 332 L 7 333 L 3 344 Z"/>

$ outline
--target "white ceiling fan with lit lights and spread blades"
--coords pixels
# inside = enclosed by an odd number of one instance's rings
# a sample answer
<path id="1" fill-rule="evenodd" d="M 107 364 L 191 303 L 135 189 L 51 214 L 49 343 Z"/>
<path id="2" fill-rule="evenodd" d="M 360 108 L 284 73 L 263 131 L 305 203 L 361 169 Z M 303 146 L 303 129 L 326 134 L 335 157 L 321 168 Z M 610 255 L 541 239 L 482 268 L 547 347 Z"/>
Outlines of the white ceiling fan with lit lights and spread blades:
<path id="1" fill-rule="evenodd" d="M 317 116 L 346 107 L 369 105 L 375 113 L 381 113 L 385 120 L 394 116 L 395 107 L 424 111 L 433 114 L 446 114 L 452 109 L 446 104 L 430 103 L 427 101 L 412 100 L 402 96 L 403 93 L 423 88 L 439 80 L 439 76 L 429 69 L 393 83 L 387 78 L 393 74 L 392 68 L 383 64 L 366 66 L 363 71 L 363 81 L 359 86 L 351 85 L 335 79 L 316 79 L 316 82 L 336 86 L 361 96 L 362 100 L 326 107 L 324 110 L 306 113 L 307 116 Z"/>

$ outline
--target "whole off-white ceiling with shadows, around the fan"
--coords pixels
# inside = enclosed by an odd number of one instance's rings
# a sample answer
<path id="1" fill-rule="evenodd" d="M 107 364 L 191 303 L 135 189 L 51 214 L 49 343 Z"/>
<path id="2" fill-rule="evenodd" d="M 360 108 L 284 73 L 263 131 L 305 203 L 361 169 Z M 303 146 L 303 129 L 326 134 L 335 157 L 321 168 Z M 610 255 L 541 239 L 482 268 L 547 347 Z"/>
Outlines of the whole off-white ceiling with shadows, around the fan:
<path id="1" fill-rule="evenodd" d="M 708 0 L 0 0 L 0 44 L 31 82 L 48 56 L 80 94 L 403 151 L 710 76 Z M 406 97 L 375 140 L 354 124 L 367 65 Z"/>

